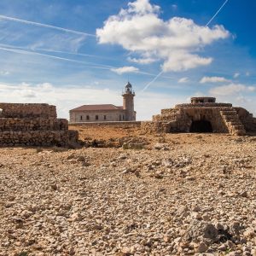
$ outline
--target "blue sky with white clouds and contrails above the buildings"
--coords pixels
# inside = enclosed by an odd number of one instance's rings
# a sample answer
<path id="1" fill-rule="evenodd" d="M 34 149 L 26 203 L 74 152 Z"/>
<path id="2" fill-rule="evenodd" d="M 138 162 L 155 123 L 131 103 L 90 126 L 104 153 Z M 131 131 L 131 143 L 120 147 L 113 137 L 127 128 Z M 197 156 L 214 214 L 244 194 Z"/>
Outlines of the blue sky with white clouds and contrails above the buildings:
<path id="1" fill-rule="evenodd" d="M 203 95 L 255 115 L 256 2 L 224 2 L 1 0 L 0 101 L 48 102 L 67 118 L 121 105 L 129 79 L 138 119 Z"/>

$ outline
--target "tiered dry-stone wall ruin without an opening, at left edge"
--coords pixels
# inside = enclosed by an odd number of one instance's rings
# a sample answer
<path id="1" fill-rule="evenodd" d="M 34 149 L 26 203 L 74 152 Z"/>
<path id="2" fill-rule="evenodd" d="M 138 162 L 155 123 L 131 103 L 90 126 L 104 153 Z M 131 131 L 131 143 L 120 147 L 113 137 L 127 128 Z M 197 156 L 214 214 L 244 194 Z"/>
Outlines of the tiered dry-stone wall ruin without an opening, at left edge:
<path id="1" fill-rule="evenodd" d="M 74 146 L 78 131 L 48 104 L 0 103 L 0 146 Z"/>

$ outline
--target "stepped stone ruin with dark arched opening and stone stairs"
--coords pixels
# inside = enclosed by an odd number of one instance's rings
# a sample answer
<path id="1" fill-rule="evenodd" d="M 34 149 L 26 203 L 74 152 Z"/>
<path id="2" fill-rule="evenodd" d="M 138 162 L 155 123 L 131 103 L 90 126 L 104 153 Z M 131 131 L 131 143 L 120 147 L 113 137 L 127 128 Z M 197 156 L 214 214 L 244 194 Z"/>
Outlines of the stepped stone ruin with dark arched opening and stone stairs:
<path id="1" fill-rule="evenodd" d="M 142 123 L 146 132 L 216 132 L 246 135 L 256 131 L 256 118 L 244 108 L 217 103 L 214 97 L 192 97 L 189 104 L 162 109 L 152 121 Z"/>

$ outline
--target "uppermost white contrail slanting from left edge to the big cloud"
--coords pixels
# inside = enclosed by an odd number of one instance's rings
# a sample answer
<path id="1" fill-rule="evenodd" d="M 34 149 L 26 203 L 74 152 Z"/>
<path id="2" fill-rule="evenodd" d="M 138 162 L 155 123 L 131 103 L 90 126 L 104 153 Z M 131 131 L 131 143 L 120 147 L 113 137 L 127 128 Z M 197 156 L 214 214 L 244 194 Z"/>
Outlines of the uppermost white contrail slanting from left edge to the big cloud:
<path id="1" fill-rule="evenodd" d="M 60 27 L 60 26 L 52 26 L 52 25 L 48 25 L 48 24 L 44 24 L 44 23 L 38 23 L 38 22 L 30 21 L 30 20 L 21 20 L 21 19 L 9 17 L 9 16 L 4 16 L 4 15 L 0 15 L 0 19 L 2 19 L 2 20 L 11 20 L 11 21 L 15 21 L 15 22 L 28 24 L 28 25 L 41 26 L 41 27 L 46 27 L 46 28 L 59 30 L 59 31 L 62 31 L 62 32 L 69 32 L 69 33 L 73 33 L 73 34 L 77 34 L 77 35 L 96 38 L 96 35 L 94 35 L 94 34 L 79 32 L 79 31 L 75 31 L 75 30 L 72 30 L 72 29 L 63 28 L 63 27 Z"/>

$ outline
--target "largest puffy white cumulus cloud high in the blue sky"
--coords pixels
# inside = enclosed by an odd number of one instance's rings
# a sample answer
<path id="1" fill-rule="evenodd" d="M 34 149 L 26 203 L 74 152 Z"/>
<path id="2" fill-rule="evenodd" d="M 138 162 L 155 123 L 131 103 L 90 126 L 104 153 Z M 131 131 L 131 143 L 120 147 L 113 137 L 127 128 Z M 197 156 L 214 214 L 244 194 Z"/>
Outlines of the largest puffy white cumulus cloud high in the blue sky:
<path id="1" fill-rule="evenodd" d="M 229 35 L 224 26 L 199 26 L 180 17 L 162 20 L 160 7 L 149 0 L 128 3 L 96 30 L 99 44 L 119 44 L 142 57 L 160 58 L 164 72 L 209 65 L 212 57 L 199 55 L 201 49 Z"/>

